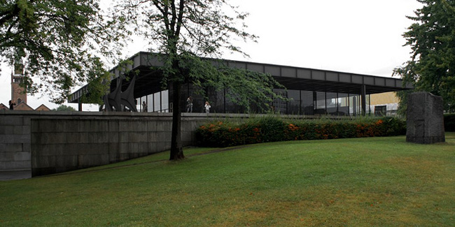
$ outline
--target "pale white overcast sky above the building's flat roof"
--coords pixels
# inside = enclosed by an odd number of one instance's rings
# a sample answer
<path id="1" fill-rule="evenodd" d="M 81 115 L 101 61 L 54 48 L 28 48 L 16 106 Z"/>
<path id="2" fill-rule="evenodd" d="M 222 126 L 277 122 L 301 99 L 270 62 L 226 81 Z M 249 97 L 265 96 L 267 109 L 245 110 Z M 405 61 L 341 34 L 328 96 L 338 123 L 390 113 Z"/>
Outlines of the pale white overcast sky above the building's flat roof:
<path id="1" fill-rule="evenodd" d="M 412 20 L 406 16 L 422 6 L 416 0 L 230 2 L 250 14 L 245 20 L 247 31 L 259 38 L 258 43 L 234 41 L 249 58 L 225 53 L 224 59 L 382 77 L 391 77 L 393 68 L 409 60 L 411 50 L 403 46 L 402 34 Z M 146 43 L 137 38 L 127 45 L 124 57 L 146 50 Z M 10 75 L 10 66 L 1 64 L 0 103 L 5 105 L 11 97 Z M 27 98 L 31 108 L 58 106 L 42 94 Z M 74 104 L 64 104 L 77 109 Z M 83 105 L 83 110 L 97 110 L 97 106 Z"/>

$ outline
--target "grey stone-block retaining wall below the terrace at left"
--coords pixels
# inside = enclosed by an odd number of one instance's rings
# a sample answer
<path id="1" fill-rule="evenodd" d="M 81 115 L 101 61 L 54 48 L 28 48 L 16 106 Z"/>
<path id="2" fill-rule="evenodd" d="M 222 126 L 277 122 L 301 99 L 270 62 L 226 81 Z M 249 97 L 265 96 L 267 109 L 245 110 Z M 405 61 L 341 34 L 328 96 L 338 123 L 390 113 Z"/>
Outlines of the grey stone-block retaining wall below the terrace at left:
<path id="1" fill-rule="evenodd" d="M 183 145 L 192 145 L 195 129 L 209 118 L 205 114 L 185 115 L 181 138 Z M 171 130 L 171 113 L 1 110 L 0 180 L 163 152 L 170 148 Z"/>

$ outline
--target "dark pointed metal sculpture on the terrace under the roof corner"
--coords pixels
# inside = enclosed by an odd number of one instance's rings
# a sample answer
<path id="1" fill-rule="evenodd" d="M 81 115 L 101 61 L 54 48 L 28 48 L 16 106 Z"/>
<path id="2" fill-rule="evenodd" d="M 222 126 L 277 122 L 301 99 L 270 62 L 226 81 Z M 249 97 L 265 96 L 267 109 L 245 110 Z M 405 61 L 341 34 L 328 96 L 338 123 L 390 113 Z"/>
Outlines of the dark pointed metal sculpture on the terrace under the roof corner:
<path id="1" fill-rule="evenodd" d="M 114 91 L 103 96 L 104 107 L 106 111 L 123 111 L 123 107 L 127 107 L 132 112 L 137 112 L 136 102 L 134 101 L 134 84 L 136 82 L 136 75 L 132 78 L 130 85 L 125 91 L 122 91 L 122 80 L 117 83 Z M 103 106 L 99 109 L 102 111 Z"/>

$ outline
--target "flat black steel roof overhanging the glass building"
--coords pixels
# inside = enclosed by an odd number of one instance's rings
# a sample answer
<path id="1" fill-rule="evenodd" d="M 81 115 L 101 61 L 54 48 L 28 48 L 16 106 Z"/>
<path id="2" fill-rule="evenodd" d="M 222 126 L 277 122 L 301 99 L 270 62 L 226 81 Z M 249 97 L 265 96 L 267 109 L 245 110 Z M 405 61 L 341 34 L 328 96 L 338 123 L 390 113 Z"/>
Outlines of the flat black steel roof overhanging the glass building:
<path id="1" fill-rule="evenodd" d="M 139 52 L 130 57 L 131 65 L 111 69 L 112 80 L 117 80 L 125 71 L 137 71 L 134 98 L 153 94 L 161 91 L 162 75 L 160 71 L 153 70 L 152 66 L 162 66 L 158 55 L 151 52 Z M 250 71 L 269 73 L 287 89 L 327 91 L 345 94 L 360 94 L 362 85 L 365 85 L 366 94 L 377 94 L 387 91 L 400 91 L 414 89 L 411 84 L 403 86 L 400 79 L 383 78 L 374 75 L 344 73 L 327 71 L 314 68 L 300 68 L 293 66 L 279 66 L 274 64 L 261 64 L 248 61 L 222 60 L 233 68 L 245 68 Z M 130 82 L 123 80 L 123 89 L 127 89 Z M 111 83 L 111 91 L 116 87 L 116 82 Z M 79 98 L 87 91 L 87 86 L 71 94 L 69 103 L 78 103 Z"/>

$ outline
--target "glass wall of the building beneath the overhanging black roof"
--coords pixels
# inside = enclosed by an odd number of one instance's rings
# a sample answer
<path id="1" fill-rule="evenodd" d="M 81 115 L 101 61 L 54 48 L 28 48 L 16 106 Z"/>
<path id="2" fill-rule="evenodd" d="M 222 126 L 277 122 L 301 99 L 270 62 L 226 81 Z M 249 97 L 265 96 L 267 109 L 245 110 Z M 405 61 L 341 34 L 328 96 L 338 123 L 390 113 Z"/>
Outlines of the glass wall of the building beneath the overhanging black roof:
<path id="1" fill-rule="evenodd" d="M 274 89 L 276 94 L 288 98 L 287 101 L 275 99 L 269 103 L 273 112 L 284 115 L 339 115 L 339 116 L 356 116 L 362 115 L 362 102 L 360 94 L 345 94 L 337 92 L 324 91 L 304 91 L 304 90 L 285 90 Z M 204 91 L 206 96 L 202 95 L 200 90 L 194 89 L 193 85 L 184 85 L 182 89 L 181 108 L 182 112 L 188 110 L 186 99 L 193 98 L 193 112 L 204 112 L 204 103 L 209 101 L 211 105 L 210 112 L 219 113 L 244 113 L 248 112 L 246 108 L 237 105 L 228 96 L 225 90 L 216 91 L 208 89 Z M 137 103 L 146 101 L 148 112 L 172 112 L 171 101 L 169 101 L 169 90 L 159 91 L 148 96 L 138 98 Z M 372 113 L 370 107 L 370 95 L 365 96 L 365 114 Z M 171 107 L 171 108 L 169 108 Z M 141 107 L 138 105 L 138 110 Z M 374 110 L 373 110 L 374 111 Z M 252 105 L 249 112 L 265 113 L 257 105 Z"/>

